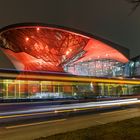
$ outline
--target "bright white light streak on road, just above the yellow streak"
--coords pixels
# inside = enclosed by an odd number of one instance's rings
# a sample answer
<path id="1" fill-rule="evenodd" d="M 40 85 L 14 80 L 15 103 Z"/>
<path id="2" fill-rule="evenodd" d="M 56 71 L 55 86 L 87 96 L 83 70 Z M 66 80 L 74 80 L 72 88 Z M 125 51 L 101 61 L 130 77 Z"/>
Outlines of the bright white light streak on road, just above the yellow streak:
<path id="1" fill-rule="evenodd" d="M 92 107 L 103 108 L 106 106 L 134 104 L 134 103 L 140 103 L 140 100 L 138 100 L 137 98 L 132 98 L 132 99 L 113 100 L 113 101 L 75 103 L 75 104 L 66 104 L 66 105 L 51 105 L 51 106 L 47 106 L 49 108 L 37 108 L 37 109 L 28 109 L 24 111 L 22 110 L 22 111 L 3 112 L 3 113 L 0 113 L 0 116 L 23 114 L 23 113 L 50 112 L 50 111 L 57 113 L 60 110 L 74 109 L 74 111 L 76 111 L 81 108 L 92 108 Z"/>

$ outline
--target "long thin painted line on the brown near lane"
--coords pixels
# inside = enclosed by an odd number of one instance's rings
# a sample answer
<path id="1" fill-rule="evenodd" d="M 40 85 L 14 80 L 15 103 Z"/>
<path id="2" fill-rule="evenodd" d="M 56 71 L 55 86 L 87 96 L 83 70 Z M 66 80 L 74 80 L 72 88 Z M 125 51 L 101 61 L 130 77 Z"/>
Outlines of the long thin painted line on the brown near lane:
<path id="1" fill-rule="evenodd" d="M 41 124 L 48 124 L 48 123 L 56 123 L 56 122 L 62 122 L 67 119 L 59 119 L 59 120 L 52 120 L 52 121 L 43 121 L 43 122 L 36 122 L 36 123 L 29 123 L 29 124 L 20 124 L 20 125 L 14 125 L 14 126 L 7 126 L 6 129 L 13 129 L 13 128 L 19 128 L 19 127 L 27 127 L 27 126 L 34 126 L 34 125 L 41 125 Z"/>

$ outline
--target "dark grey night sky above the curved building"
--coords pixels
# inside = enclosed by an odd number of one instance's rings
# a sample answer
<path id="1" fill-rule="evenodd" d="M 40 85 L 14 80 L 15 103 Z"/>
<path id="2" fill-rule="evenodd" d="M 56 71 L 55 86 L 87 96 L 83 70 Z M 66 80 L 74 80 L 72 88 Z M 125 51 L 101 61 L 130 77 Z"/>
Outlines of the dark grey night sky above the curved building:
<path id="1" fill-rule="evenodd" d="M 43 22 L 98 35 L 140 55 L 140 7 L 125 0 L 0 0 L 0 28 Z"/>

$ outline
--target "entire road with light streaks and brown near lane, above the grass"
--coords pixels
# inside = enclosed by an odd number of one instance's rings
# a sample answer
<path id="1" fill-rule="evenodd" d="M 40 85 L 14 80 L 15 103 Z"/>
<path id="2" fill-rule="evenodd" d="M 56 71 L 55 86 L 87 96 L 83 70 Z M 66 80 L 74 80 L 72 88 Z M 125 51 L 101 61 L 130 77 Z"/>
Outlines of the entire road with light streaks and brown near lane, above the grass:
<path id="1" fill-rule="evenodd" d="M 28 109 L 23 108 L 23 106 L 21 107 L 22 109 L 19 107 L 21 110 L 18 108 L 14 112 L 10 109 L 7 111 L 2 110 L 0 111 L 0 140 L 32 140 L 42 136 L 50 136 L 140 116 L 140 103 L 123 107 L 118 106 L 118 108 L 109 106 L 107 110 L 101 108 L 101 106 L 98 109 L 94 109 L 95 106 L 93 108 L 90 106 L 89 108 L 89 104 L 91 105 L 91 103 L 86 103 L 88 108 L 83 108 L 85 104 L 82 103 L 82 108 L 79 108 L 79 110 L 77 106 L 73 108 L 75 105 L 62 105 L 61 107 L 65 108 L 56 110 L 60 106 L 50 107 L 48 105 L 41 106 L 40 104 L 35 105 L 36 109 L 31 105 Z M 2 106 L 4 107 L 4 105 Z M 10 106 L 8 105 L 7 108 Z M 68 106 L 72 108 L 70 109 Z M 46 110 L 47 107 L 53 110 L 50 111 L 49 109 L 48 111 Z M 38 109 L 43 110 L 39 112 Z M 23 114 L 21 111 L 23 111 Z M 28 111 L 28 113 L 25 111 Z"/>

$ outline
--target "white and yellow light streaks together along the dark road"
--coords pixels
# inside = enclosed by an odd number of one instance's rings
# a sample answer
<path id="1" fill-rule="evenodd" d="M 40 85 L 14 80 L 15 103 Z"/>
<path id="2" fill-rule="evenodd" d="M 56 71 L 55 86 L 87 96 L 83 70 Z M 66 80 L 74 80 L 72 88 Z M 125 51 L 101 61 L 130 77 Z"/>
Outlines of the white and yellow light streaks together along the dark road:
<path id="1" fill-rule="evenodd" d="M 77 103 L 77 104 L 69 104 L 69 105 L 56 105 L 56 106 L 51 106 L 49 108 L 3 112 L 0 113 L 0 119 L 72 112 L 72 111 L 80 111 L 80 110 L 82 111 L 82 110 L 94 109 L 94 107 L 104 108 L 107 106 L 117 106 L 117 105 L 135 104 L 135 103 L 140 103 L 140 100 L 138 100 L 137 98 L 133 98 L 133 99 L 124 99 L 124 100 L 115 100 L 115 101 L 100 101 L 100 102 Z"/>

